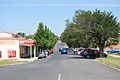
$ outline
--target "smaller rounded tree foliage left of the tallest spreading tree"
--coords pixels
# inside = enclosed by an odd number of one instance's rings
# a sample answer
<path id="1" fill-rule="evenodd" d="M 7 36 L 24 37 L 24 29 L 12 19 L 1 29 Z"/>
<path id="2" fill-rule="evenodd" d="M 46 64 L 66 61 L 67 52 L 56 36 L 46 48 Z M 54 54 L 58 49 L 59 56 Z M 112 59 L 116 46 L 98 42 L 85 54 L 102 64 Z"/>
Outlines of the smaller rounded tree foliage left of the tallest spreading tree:
<path id="1" fill-rule="evenodd" d="M 61 35 L 61 40 L 68 44 L 69 47 L 89 47 L 90 46 L 90 36 L 83 33 L 82 29 L 74 22 L 68 22 L 66 24 L 66 29 Z M 89 42 L 90 41 L 90 42 Z"/>

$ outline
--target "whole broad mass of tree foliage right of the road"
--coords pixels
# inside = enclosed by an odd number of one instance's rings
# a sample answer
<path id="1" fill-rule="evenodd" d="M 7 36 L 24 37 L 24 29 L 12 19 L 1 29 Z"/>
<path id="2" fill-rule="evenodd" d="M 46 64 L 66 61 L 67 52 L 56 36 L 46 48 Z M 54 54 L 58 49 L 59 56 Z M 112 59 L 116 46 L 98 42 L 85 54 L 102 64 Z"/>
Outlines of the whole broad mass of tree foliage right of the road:
<path id="1" fill-rule="evenodd" d="M 70 47 L 94 45 L 103 51 L 111 38 L 118 38 L 119 32 L 120 24 L 111 12 L 77 10 L 73 20 L 67 20 L 61 40 Z"/>

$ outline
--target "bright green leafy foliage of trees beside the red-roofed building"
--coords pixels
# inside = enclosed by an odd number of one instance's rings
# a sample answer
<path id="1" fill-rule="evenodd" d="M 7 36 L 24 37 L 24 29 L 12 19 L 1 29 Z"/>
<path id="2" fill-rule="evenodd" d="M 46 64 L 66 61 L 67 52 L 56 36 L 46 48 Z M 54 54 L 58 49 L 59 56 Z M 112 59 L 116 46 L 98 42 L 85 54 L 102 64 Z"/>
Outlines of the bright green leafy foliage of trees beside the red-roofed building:
<path id="1" fill-rule="evenodd" d="M 39 23 L 34 39 L 36 40 L 37 47 L 41 49 L 50 49 L 54 47 L 57 36 L 55 36 L 46 25 Z"/>

